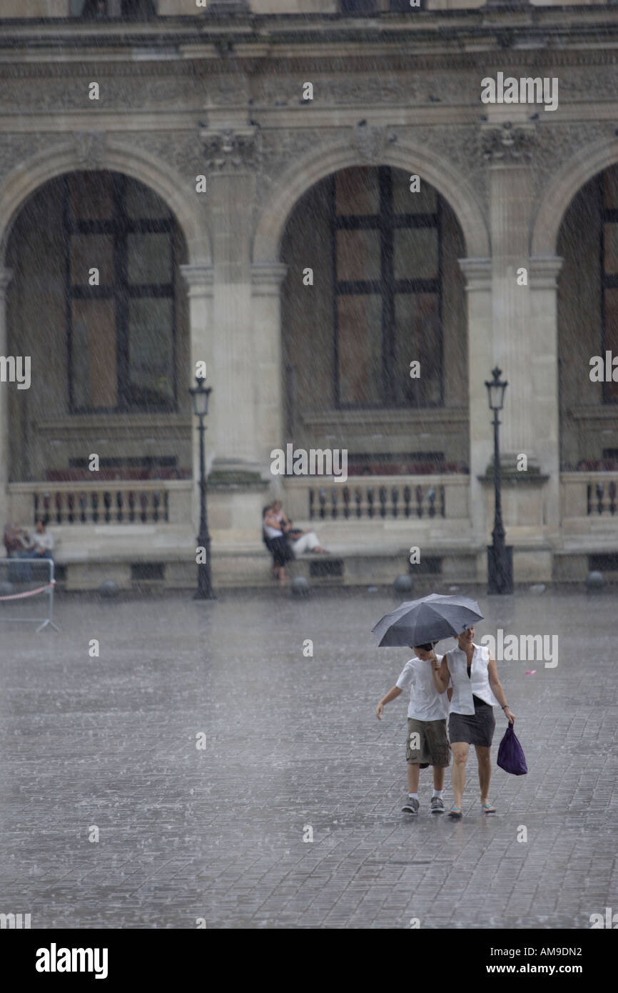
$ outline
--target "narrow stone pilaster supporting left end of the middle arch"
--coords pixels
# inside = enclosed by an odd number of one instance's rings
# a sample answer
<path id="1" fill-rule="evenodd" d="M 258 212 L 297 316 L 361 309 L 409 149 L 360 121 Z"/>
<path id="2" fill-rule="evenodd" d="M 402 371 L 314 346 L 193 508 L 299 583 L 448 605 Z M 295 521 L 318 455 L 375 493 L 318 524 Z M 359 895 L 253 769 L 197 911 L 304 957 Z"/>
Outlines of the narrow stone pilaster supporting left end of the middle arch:
<path id="1" fill-rule="evenodd" d="M 287 271 L 283 262 L 256 262 L 251 266 L 257 455 L 267 471 L 270 453 L 283 444 L 281 285 Z"/>

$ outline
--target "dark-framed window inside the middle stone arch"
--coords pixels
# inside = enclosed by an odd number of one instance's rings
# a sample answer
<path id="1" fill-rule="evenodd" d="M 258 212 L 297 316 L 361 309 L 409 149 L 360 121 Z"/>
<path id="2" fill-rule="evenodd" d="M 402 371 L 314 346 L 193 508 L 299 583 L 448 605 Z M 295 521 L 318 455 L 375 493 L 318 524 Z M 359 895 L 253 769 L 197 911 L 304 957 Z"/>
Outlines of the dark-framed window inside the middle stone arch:
<path id="1" fill-rule="evenodd" d="M 385 166 L 330 179 L 338 407 L 442 403 L 442 205 L 411 185 Z"/>

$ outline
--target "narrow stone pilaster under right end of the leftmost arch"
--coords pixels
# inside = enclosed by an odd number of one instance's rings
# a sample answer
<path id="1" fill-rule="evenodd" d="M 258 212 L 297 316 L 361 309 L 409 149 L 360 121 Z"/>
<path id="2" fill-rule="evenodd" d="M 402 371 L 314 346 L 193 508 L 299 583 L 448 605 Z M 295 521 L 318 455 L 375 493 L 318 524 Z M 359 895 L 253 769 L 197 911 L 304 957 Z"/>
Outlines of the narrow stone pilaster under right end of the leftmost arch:
<path id="1" fill-rule="evenodd" d="M 217 409 L 217 365 L 214 360 L 214 329 L 212 324 L 212 284 L 213 274 L 211 265 L 188 264 L 181 265 L 181 272 L 188 287 L 188 328 L 190 343 L 190 385 L 195 385 L 195 363 L 206 363 L 206 386 L 212 386 L 213 392 L 206 418 L 206 473 L 213 457 L 216 455 L 218 424 L 220 411 Z M 192 407 L 191 407 L 192 410 Z M 191 413 L 191 452 L 193 469 L 193 488 L 191 491 L 191 523 L 195 533 L 199 523 L 199 434 L 197 418 Z"/>

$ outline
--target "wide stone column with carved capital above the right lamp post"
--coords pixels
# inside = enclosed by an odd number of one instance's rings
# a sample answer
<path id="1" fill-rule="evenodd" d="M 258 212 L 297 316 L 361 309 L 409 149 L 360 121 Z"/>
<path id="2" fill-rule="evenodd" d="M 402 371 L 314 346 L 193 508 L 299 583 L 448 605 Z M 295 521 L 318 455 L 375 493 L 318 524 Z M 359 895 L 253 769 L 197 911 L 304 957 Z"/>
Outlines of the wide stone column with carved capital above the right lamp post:
<path id="1" fill-rule="evenodd" d="M 533 133 L 527 125 L 491 125 L 482 133 L 489 161 L 493 297 L 493 355 L 486 377 L 498 364 L 509 383 L 500 417 L 501 461 L 509 469 L 519 454 L 528 457 L 531 468 L 538 463 L 530 297 L 523 273 L 518 283 L 518 270 L 528 270 Z"/>

